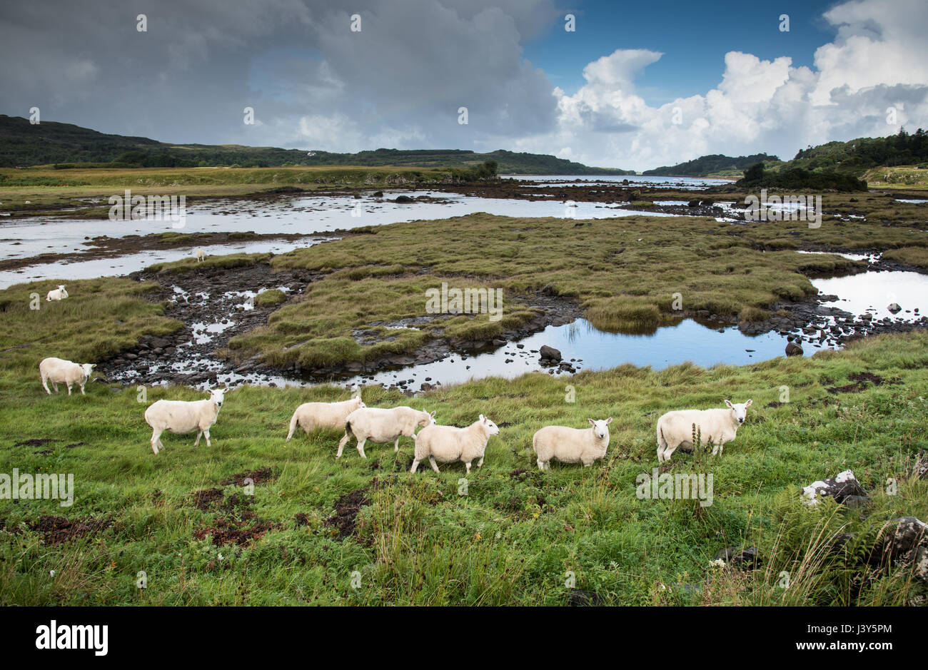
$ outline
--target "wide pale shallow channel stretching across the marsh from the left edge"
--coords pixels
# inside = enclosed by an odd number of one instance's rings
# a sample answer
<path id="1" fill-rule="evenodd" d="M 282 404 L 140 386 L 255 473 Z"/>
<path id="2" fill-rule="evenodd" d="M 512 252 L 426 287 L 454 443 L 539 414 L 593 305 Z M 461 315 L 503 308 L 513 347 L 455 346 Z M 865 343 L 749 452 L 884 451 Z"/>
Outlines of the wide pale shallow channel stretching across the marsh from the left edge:
<path id="1" fill-rule="evenodd" d="M 396 203 L 386 200 L 397 195 L 441 197 L 444 202 Z M 187 208 L 185 225 L 175 227 L 170 220 L 109 221 L 68 220 L 41 217 L 20 219 L 0 227 L 3 241 L 0 259 L 31 258 L 41 253 L 71 253 L 90 251 L 84 242 L 107 236 L 149 235 L 164 232 L 249 232 L 259 234 L 297 233 L 309 235 L 334 230 L 347 230 L 363 225 L 387 225 L 408 221 L 444 219 L 451 216 L 485 212 L 504 216 L 602 219 L 644 214 L 672 216 L 666 213 L 636 212 L 611 208 L 597 202 L 566 203 L 561 200 L 499 200 L 472 198 L 457 194 L 433 194 L 431 191 L 397 191 L 385 193 L 383 199 L 372 196 L 356 200 L 351 196 L 307 196 L 291 199 L 256 201 L 215 201 Z M 317 240 L 316 240 L 317 241 Z M 238 242 L 203 247 L 210 254 L 244 251 L 282 253 L 311 246 L 315 241 L 286 242 L 264 240 Z M 198 245 L 200 246 L 200 245 Z M 47 278 L 83 279 L 113 277 L 141 270 L 150 264 L 176 261 L 192 253 L 191 248 L 162 251 L 140 251 L 118 258 L 98 261 L 72 261 L 35 264 L 19 270 L 0 272 L 0 289 L 25 281 Z M 67 265 L 67 268 L 64 266 Z"/>

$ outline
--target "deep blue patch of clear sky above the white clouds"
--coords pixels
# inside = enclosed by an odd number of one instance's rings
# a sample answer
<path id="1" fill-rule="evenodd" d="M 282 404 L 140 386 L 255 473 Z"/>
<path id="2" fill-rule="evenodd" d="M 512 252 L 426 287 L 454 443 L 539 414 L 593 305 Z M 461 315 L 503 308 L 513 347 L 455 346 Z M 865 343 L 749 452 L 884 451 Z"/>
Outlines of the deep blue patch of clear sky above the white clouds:
<path id="1" fill-rule="evenodd" d="M 718 84 L 728 51 L 764 59 L 789 56 L 793 66 L 811 66 L 818 46 L 834 37 L 835 30 L 822 14 L 836 4 L 833 0 L 585 2 L 563 12 L 574 14 L 575 32 L 564 31 L 561 20 L 542 38 L 527 42 L 524 56 L 574 95 L 585 83 L 586 63 L 615 49 L 660 51 L 664 57 L 648 67 L 638 91 L 650 105 L 663 105 Z M 781 14 L 790 17 L 789 32 L 780 32 Z"/>

